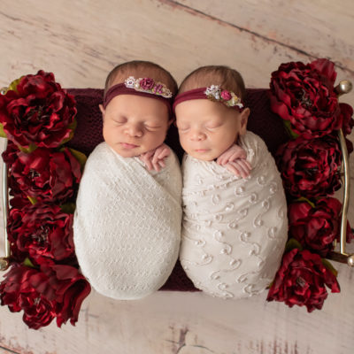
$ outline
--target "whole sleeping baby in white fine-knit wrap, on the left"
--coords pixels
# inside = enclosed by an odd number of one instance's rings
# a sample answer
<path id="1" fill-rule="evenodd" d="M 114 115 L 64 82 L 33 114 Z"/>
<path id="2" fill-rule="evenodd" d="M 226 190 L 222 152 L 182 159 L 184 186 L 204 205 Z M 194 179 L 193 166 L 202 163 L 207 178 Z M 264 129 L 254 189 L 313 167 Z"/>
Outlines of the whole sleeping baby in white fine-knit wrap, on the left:
<path id="1" fill-rule="evenodd" d="M 85 165 L 73 222 L 81 272 L 104 296 L 150 295 L 178 258 L 181 169 L 164 143 L 176 90 L 150 62 L 119 65 L 107 77 L 104 142 Z"/>

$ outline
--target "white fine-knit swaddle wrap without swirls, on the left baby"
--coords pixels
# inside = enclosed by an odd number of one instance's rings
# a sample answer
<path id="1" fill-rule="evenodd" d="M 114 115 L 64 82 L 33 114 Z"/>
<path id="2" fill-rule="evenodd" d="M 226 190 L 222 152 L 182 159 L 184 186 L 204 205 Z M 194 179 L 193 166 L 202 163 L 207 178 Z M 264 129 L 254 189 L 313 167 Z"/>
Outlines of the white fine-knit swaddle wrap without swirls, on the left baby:
<path id="1" fill-rule="evenodd" d="M 158 173 L 99 144 L 85 165 L 73 237 L 81 272 L 99 293 L 124 300 L 158 290 L 181 241 L 181 169 L 173 152 Z"/>

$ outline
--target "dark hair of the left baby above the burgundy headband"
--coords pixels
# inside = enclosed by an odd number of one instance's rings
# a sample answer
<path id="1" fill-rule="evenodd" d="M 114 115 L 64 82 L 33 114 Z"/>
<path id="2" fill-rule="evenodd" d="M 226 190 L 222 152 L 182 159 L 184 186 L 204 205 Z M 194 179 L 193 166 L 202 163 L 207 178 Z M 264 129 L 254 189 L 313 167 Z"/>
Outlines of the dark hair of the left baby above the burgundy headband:
<path id="1" fill-rule="evenodd" d="M 108 74 L 104 85 L 104 94 L 111 88 L 113 82 L 119 83 L 127 79 L 128 76 L 134 76 L 136 79 L 150 77 L 154 81 L 165 83 L 173 96 L 177 93 L 177 82 L 173 79 L 171 73 L 162 66 L 150 61 L 133 60 L 127 63 L 119 64 L 111 73 Z"/>

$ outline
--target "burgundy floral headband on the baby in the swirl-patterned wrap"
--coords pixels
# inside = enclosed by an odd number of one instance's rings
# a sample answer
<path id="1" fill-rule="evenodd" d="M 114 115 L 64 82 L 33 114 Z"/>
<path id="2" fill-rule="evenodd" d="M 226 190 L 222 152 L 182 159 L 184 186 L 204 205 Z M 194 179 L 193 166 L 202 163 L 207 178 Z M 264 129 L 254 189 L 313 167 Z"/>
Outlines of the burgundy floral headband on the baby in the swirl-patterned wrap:
<path id="1" fill-rule="evenodd" d="M 225 104 L 227 107 L 235 107 L 240 112 L 242 112 L 244 108 L 241 98 L 236 96 L 233 91 L 221 89 L 219 85 L 212 85 L 209 88 L 191 89 L 177 95 L 174 98 L 173 111 L 176 105 L 181 104 L 181 102 L 203 98 L 209 99 L 213 102 L 220 102 L 221 104 Z"/>

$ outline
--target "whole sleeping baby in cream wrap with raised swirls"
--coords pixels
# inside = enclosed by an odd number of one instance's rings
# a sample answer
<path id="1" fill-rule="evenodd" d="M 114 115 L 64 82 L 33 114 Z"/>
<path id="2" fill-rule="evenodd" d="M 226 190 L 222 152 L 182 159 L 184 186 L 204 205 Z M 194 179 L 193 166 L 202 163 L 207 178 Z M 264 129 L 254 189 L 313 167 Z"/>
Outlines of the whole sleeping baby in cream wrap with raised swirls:
<path id="1" fill-rule="evenodd" d="M 273 281 L 288 235 L 281 176 L 266 143 L 246 130 L 240 73 L 196 69 L 173 109 L 183 158 L 180 260 L 212 296 L 259 294 Z"/>

